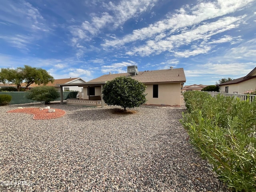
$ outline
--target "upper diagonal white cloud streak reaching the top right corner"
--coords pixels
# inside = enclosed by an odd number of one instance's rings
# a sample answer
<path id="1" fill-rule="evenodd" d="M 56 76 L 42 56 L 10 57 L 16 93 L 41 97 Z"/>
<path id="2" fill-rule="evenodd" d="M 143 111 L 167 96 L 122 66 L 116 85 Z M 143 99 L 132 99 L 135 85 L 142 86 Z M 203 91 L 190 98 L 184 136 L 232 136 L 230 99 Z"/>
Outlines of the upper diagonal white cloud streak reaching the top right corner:
<path id="1" fill-rule="evenodd" d="M 253 0 L 219 0 L 218 3 L 202 2 L 193 7 L 186 5 L 180 8 L 176 14 L 172 14 L 164 20 L 150 24 L 148 27 L 134 30 L 132 34 L 126 35 L 124 38 L 105 40 L 102 46 L 122 46 L 129 42 L 153 38 L 154 36 L 167 31 L 170 31 L 170 34 L 173 34 L 182 28 L 200 24 L 200 22 L 203 22 L 204 20 L 218 18 L 232 13 L 235 10 L 243 8 L 252 1 Z M 159 38 L 161 37 L 158 36 L 158 40 Z"/>

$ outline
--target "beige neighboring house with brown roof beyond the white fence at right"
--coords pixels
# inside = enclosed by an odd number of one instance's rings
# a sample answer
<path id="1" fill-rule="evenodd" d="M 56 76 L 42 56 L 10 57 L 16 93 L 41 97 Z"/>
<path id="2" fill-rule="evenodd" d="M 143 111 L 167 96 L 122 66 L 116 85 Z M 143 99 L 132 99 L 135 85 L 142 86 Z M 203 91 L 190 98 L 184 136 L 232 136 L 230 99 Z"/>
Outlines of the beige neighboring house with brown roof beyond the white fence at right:
<path id="1" fill-rule="evenodd" d="M 226 93 L 243 94 L 248 90 L 255 90 L 256 68 L 254 68 L 250 73 L 248 73 L 248 75 L 244 77 L 219 84 L 219 87 L 219 92 Z"/>

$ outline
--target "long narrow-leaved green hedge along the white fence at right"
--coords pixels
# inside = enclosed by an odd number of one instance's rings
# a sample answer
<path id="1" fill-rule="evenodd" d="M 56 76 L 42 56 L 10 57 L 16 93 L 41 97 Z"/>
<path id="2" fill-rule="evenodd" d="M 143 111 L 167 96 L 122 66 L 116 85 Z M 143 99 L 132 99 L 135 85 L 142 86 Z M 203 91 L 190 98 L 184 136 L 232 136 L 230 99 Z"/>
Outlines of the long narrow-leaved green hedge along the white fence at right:
<path id="1" fill-rule="evenodd" d="M 190 142 L 230 188 L 256 192 L 256 100 L 184 94 L 182 125 Z"/>

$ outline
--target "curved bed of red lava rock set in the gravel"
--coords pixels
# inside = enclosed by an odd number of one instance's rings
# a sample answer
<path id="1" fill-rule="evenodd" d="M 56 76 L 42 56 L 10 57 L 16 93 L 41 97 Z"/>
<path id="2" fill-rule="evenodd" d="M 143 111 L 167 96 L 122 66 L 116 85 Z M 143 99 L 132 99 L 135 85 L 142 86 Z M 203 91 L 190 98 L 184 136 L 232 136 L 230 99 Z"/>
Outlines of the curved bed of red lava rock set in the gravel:
<path id="1" fill-rule="evenodd" d="M 7 113 L 33 114 L 34 120 L 54 119 L 54 118 L 62 117 L 66 114 L 66 112 L 61 109 L 55 109 L 55 112 L 48 112 L 48 109 L 40 110 L 40 108 L 18 108 L 18 109 L 7 111 Z"/>

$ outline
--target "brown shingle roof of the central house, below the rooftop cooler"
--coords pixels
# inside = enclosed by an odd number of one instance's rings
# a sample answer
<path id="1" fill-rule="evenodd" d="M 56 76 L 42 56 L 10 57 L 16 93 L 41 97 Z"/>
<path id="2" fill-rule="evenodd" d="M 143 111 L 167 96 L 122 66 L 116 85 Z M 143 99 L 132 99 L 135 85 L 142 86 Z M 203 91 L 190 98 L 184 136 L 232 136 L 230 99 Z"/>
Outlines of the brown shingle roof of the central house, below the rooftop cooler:
<path id="1" fill-rule="evenodd" d="M 166 69 L 166 70 L 153 70 L 142 71 L 136 75 L 130 75 L 128 73 L 120 74 L 107 74 L 98 78 L 90 80 L 88 82 L 107 82 L 120 76 L 131 76 L 135 80 L 142 83 L 156 83 L 156 82 L 186 82 L 186 77 L 183 68 Z"/>

